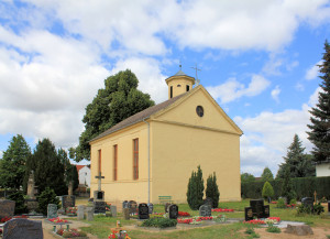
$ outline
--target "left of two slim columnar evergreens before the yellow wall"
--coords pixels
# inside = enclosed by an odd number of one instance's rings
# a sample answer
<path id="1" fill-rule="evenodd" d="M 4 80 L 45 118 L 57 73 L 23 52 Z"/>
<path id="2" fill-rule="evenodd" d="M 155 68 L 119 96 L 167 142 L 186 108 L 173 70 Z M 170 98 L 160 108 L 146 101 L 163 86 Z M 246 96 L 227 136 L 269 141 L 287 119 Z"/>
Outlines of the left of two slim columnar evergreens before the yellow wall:
<path id="1" fill-rule="evenodd" d="M 200 166 L 198 166 L 197 172 L 191 173 L 191 177 L 189 178 L 188 189 L 187 189 L 187 202 L 189 207 L 193 210 L 199 209 L 202 205 L 204 197 L 204 180 L 202 172 Z"/>

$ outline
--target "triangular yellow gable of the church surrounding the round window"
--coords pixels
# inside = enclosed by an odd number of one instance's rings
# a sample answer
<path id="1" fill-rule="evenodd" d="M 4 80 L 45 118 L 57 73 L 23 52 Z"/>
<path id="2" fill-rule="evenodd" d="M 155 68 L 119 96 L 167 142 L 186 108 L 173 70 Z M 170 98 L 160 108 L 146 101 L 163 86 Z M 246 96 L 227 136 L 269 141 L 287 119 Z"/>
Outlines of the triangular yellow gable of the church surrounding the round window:
<path id="1" fill-rule="evenodd" d="M 194 90 L 196 90 L 196 93 L 188 98 L 179 100 L 182 102 L 178 106 L 173 106 L 173 109 L 165 110 L 164 113 L 160 112 L 160 116 L 156 116 L 155 118 L 157 120 L 182 122 L 241 134 L 240 129 L 233 127 L 227 119 L 226 112 L 220 109 L 206 90 L 201 88 Z M 197 116 L 197 106 L 202 106 L 204 117 Z"/>

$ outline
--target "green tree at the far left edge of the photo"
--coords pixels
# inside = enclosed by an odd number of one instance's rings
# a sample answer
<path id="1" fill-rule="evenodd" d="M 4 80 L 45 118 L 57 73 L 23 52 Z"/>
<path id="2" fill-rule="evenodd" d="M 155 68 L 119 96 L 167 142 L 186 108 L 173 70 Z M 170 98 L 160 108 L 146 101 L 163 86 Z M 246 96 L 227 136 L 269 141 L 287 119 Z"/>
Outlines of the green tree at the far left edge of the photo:
<path id="1" fill-rule="evenodd" d="M 31 149 L 25 139 L 21 134 L 13 137 L 0 160 L 0 187 L 19 189 L 23 185 L 30 155 Z"/>

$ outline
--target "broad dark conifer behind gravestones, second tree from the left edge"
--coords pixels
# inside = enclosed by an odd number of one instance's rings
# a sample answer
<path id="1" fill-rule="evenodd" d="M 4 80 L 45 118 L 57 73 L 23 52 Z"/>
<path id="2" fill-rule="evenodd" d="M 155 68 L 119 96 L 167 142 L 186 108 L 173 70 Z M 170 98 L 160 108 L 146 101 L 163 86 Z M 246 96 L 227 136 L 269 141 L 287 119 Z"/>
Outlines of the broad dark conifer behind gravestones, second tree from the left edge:
<path id="1" fill-rule="evenodd" d="M 24 177 L 25 189 L 32 170 L 34 171 L 34 181 L 38 187 L 38 192 L 43 192 L 46 187 L 50 187 L 57 195 L 67 194 L 67 186 L 64 178 L 65 165 L 51 140 L 43 139 L 38 141 L 33 154 L 28 159 Z"/>

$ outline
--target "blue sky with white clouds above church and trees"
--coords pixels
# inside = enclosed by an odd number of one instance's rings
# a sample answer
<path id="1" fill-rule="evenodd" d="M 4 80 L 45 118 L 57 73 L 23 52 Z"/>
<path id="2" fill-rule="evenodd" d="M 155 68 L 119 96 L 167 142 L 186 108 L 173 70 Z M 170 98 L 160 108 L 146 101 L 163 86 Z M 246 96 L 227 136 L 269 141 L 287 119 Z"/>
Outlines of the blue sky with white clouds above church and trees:
<path id="1" fill-rule="evenodd" d="M 78 143 L 103 80 L 130 68 L 167 99 L 165 78 L 195 77 L 243 130 L 241 172 L 260 176 L 299 135 L 306 153 L 318 64 L 330 35 L 327 0 L 1 0 L 0 157 L 15 134 L 32 150 Z"/>

